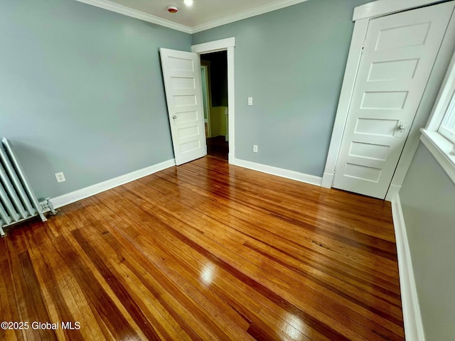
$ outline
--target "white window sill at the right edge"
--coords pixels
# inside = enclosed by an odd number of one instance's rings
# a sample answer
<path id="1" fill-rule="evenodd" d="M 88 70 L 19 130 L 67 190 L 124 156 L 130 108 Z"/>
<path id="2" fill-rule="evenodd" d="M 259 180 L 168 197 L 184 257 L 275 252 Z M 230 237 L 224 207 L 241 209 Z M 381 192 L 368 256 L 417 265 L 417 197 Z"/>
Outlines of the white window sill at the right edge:
<path id="1" fill-rule="evenodd" d="M 449 178 L 455 183 L 455 155 L 450 153 L 453 145 L 437 131 L 420 129 L 420 141 L 428 148 L 434 158 L 439 162 Z"/>

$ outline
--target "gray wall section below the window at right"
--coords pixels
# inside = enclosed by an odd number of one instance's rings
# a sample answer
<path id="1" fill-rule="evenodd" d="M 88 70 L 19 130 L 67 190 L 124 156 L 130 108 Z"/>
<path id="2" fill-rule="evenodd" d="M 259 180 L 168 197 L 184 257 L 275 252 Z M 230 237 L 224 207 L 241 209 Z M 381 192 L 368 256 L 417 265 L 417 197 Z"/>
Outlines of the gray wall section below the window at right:
<path id="1" fill-rule="evenodd" d="M 455 335 L 455 184 L 421 143 L 400 190 L 427 340 Z"/>

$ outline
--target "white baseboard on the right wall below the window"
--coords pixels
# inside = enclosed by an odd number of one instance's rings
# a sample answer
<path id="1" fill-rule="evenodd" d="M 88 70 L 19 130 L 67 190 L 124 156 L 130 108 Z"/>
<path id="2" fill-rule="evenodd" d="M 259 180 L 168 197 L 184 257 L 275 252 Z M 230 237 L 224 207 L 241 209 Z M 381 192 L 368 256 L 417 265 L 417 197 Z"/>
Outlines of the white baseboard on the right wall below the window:
<path id="1" fill-rule="evenodd" d="M 400 195 L 392 200 L 392 217 L 397 241 L 398 269 L 400 271 L 400 287 L 405 322 L 406 340 L 425 341 L 422 316 L 420 315 L 419 298 L 415 286 L 414 270 L 410 246 L 407 242 L 405 217 L 403 217 Z"/>

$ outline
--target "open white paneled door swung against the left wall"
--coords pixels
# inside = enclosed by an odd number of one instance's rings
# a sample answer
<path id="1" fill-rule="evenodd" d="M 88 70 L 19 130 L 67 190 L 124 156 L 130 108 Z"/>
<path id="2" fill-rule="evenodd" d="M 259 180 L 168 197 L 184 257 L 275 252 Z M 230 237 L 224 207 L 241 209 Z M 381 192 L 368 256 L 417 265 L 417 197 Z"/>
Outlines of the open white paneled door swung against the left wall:
<path id="1" fill-rule="evenodd" d="M 173 153 L 181 165 L 207 155 L 200 59 L 196 53 L 159 50 Z"/>

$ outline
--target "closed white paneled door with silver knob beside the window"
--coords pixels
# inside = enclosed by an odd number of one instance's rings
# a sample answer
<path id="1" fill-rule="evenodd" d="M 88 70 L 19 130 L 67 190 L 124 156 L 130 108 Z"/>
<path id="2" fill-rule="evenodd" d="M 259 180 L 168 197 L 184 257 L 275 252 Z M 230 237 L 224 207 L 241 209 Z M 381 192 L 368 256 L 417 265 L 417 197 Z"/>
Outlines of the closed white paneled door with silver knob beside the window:
<path id="1" fill-rule="evenodd" d="M 372 19 L 333 187 L 384 198 L 454 1 Z"/>

